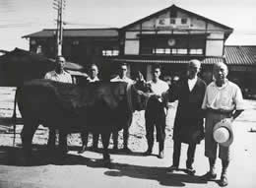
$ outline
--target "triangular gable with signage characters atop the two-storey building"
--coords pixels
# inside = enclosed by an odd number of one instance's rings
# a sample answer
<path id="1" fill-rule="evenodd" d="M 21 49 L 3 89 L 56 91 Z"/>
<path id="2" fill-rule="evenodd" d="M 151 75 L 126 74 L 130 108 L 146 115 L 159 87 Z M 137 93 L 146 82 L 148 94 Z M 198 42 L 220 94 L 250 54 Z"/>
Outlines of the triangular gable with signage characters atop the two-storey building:
<path id="1" fill-rule="evenodd" d="M 145 17 L 135 23 L 123 27 L 121 30 L 138 31 L 229 31 L 232 29 L 220 23 L 186 11 L 175 5 Z"/>

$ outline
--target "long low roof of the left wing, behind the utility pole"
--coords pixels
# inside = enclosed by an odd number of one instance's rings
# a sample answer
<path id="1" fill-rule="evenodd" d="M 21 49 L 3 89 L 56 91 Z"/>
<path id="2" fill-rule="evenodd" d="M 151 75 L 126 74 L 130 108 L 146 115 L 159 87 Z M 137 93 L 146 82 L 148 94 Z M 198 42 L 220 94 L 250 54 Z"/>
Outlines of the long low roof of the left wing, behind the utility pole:
<path id="1" fill-rule="evenodd" d="M 53 37 L 56 30 L 42 30 L 33 32 L 23 37 Z M 118 37 L 118 29 L 73 29 L 64 30 L 66 37 Z"/>

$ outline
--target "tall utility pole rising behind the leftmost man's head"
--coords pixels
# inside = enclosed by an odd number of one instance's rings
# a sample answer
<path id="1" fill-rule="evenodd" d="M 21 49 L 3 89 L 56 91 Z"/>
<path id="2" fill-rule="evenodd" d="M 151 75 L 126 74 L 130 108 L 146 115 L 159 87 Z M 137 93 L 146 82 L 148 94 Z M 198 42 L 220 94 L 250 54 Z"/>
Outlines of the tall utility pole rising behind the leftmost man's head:
<path id="1" fill-rule="evenodd" d="M 63 8 L 65 0 L 53 0 L 53 8 L 57 10 L 57 30 L 56 30 L 56 55 L 62 56 L 63 43 Z"/>

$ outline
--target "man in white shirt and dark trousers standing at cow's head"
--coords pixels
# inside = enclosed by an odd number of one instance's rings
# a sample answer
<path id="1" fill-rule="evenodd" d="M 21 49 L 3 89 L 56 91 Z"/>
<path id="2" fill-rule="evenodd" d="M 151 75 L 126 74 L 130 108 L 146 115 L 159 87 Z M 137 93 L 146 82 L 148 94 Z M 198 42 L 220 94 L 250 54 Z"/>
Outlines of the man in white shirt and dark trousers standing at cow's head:
<path id="1" fill-rule="evenodd" d="M 160 65 L 153 67 L 153 80 L 150 81 L 149 87 L 152 91 L 147 102 L 145 111 L 146 119 L 146 138 L 148 142 L 148 150 L 144 153 L 145 156 L 152 154 L 154 145 L 154 128 L 157 129 L 157 141 L 160 144 L 159 157 L 164 157 L 164 139 L 165 139 L 165 104 L 162 102 L 161 95 L 169 89 L 168 84 L 160 80 Z"/>

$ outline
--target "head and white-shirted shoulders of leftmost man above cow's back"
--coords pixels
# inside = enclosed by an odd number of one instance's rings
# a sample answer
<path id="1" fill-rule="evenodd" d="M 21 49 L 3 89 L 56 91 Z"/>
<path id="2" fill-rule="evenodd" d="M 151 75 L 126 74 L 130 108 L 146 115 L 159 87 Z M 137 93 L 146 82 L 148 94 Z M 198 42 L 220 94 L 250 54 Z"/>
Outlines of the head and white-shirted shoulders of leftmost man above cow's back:
<path id="1" fill-rule="evenodd" d="M 44 79 L 62 83 L 73 83 L 71 75 L 64 70 L 65 63 L 64 57 L 57 56 L 55 70 L 46 73 Z"/>

